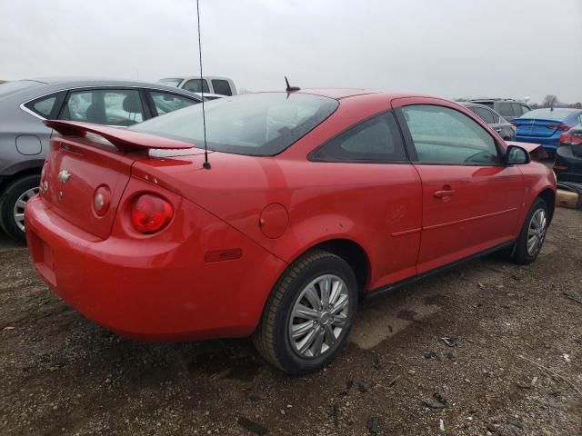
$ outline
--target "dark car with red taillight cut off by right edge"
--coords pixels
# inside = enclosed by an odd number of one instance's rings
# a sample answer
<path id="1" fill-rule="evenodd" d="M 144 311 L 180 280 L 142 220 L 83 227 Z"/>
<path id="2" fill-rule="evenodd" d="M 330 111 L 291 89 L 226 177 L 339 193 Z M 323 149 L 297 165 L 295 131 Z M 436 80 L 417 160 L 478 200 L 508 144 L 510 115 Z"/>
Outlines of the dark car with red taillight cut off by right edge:
<path id="1" fill-rule="evenodd" d="M 582 124 L 560 135 L 554 173 L 558 182 L 582 183 Z"/>

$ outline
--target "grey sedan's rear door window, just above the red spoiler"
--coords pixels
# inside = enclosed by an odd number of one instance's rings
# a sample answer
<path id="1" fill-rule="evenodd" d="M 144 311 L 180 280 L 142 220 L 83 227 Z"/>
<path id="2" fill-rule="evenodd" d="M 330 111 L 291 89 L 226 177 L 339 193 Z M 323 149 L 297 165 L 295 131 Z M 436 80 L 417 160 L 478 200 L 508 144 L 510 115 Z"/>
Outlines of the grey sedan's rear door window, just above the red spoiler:
<path id="1" fill-rule="evenodd" d="M 144 121 L 144 108 L 137 90 L 78 91 L 69 94 L 61 118 L 126 126 Z"/>

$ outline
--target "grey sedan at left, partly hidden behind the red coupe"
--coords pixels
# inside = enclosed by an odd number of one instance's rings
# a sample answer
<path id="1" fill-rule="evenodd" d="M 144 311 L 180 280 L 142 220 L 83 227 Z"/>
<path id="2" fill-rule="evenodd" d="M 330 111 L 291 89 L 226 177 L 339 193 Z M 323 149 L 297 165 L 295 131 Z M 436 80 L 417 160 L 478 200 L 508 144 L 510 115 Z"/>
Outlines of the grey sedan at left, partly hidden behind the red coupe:
<path id="1" fill-rule="evenodd" d="M 141 82 L 50 78 L 0 84 L 0 226 L 25 240 L 25 204 L 38 192 L 53 130 L 46 119 L 126 127 L 201 102 L 198 94 Z"/>

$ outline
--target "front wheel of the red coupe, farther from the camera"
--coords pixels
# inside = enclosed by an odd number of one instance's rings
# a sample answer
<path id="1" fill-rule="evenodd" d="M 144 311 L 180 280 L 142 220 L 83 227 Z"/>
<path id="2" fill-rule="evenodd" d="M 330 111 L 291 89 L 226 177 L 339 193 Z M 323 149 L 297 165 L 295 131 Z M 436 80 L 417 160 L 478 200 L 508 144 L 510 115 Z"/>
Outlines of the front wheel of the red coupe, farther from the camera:
<path id="1" fill-rule="evenodd" d="M 542 249 L 546 240 L 546 231 L 549 215 L 547 203 L 537 198 L 527 213 L 526 220 L 517 238 L 513 262 L 519 265 L 527 265 L 537 259 L 537 254 Z"/>

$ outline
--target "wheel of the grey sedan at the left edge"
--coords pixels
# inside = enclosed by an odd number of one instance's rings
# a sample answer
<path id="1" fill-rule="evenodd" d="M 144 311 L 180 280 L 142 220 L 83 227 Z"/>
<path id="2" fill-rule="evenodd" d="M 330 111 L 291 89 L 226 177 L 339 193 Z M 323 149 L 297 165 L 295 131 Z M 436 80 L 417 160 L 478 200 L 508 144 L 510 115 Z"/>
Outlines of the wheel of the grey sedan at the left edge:
<path id="1" fill-rule="evenodd" d="M 25 243 L 24 205 L 38 193 L 39 175 L 27 175 L 11 183 L 0 199 L 0 226 L 12 239 Z"/>

